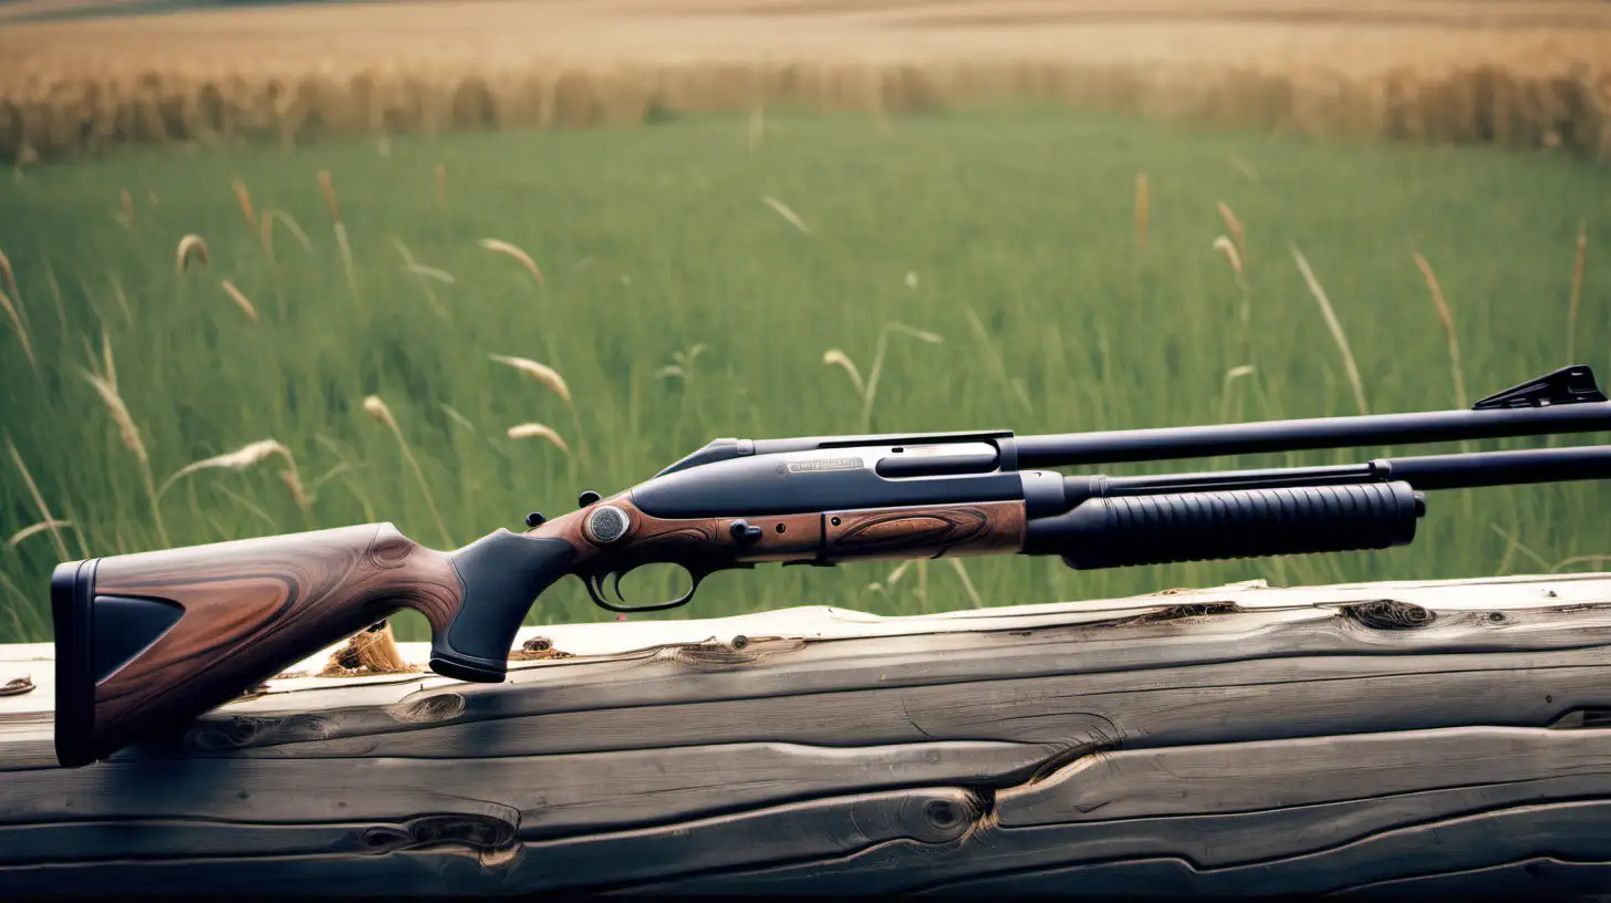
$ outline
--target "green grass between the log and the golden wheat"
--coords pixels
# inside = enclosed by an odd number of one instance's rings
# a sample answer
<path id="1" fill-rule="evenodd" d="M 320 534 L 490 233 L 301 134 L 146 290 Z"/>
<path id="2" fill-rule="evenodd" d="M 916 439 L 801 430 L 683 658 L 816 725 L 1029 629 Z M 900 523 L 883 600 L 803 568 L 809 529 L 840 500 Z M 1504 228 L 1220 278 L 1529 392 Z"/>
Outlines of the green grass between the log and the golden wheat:
<path id="1" fill-rule="evenodd" d="M 190 461 L 267 437 L 290 447 L 306 482 L 319 481 L 303 516 L 277 463 L 198 472 L 163 498 L 171 543 L 391 521 L 441 548 L 519 529 L 528 510 L 569 511 L 578 490 L 622 489 L 722 435 L 1036 434 L 1356 413 L 1289 243 L 1337 310 L 1371 411 L 1469 403 L 1455 398 L 1413 250 L 1437 269 L 1455 310 L 1469 392 L 1487 393 L 1568 363 L 1580 218 L 1590 256 L 1576 356 L 1601 371 L 1611 364 L 1611 282 L 1595 252 L 1611 235 L 1606 169 L 1028 110 L 909 119 L 889 135 L 860 118 L 770 127 L 759 153 L 743 119 L 714 118 L 398 139 L 387 156 L 374 142 L 351 142 L 126 152 L 31 169 L 0 184 L 0 248 L 16 266 L 40 366 L 0 327 L 3 431 L 52 511 L 77 522 L 81 532 L 64 532 L 72 556 L 161 547 L 140 469 L 82 376 L 105 329 L 158 484 Z M 449 173 L 445 208 L 435 200 L 438 161 Z M 342 197 L 358 292 L 346 285 L 316 187 L 325 168 Z M 1145 250 L 1134 226 L 1137 171 L 1150 184 Z M 271 261 L 230 194 L 235 177 L 259 211 L 288 211 L 311 253 L 280 229 Z M 129 227 L 114 219 L 122 189 L 137 206 Z M 789 205 L 810 232 L 762 195 Z M 1226 231 L 1216 200 L 1249 232 L 1245 345 L 1240 293 L 1211 247 Z M 187 232 L 206 237 L 213 260 L 180 277 L 174 248 Z M 432 284 L 440 314 L 403 269 L 393 237 L 422 264 L 453 274 L 453 284 Z M 546 284 L 480 248 L 482 237 L 527 248 Z M 256 303 L 259 326 L 221 279 Z M 891 334 L 863 421 L 849 377 L 825 366 L 823 353 L 843 348 L 865 376 L 891 322 L 944 342 Z M 691 348 L 702 352 L 683 377 L 657 374 Z M 490 361 L 493 353 L 562 372 L 575 419 L 535 381 Z M 1257 372 L 1226 393 L 1226 371 L 1239 364 Z M 396 416 L 448 537 L 390 432 L 364 413 L 367 393 Z M 554 426 L 572 448 L 585 442 L 590 455 L 504 437 L 527 421 Z M 1363 461 L 1384 452 L 1155 469 Z M 10 460 L 0 472 L 3 540 L 40 516 Z M 967 572 L 986 603 L 1018 605 L 1257 577 L 1595 569 L 1600 561 L 1568 560 L 1611 553 L 1608 501 L 1601 484 L 1439 493 L 1416 543 L 1384 553 L 1110 572 L 1008 556 L 967 560 Z M 47 584 L 58 558 L 48 534 L 0 548 L 0 639 L 48 637 Z M 722 574 L 681 613 L 971 605 L 941 563 L 907 569 L 896 584 L 889 572 L 857 564 Z M 598 616 L 567 580 L 532 621 Z M 424 621 L 408 621 L 404 632 L 422 637 Z"/>

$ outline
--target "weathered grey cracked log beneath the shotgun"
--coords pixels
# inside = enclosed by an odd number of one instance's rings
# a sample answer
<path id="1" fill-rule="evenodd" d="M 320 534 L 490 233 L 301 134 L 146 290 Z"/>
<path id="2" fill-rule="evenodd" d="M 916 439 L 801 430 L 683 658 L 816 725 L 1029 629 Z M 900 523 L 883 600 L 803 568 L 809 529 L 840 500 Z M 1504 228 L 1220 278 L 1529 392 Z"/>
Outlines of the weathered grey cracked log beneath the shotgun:
<path id="1" fill-rule="evenodd" d="M 0 893 L 1611 893 L 1611 574 L 536 635 L 82 769 L 0 647 Z"/>

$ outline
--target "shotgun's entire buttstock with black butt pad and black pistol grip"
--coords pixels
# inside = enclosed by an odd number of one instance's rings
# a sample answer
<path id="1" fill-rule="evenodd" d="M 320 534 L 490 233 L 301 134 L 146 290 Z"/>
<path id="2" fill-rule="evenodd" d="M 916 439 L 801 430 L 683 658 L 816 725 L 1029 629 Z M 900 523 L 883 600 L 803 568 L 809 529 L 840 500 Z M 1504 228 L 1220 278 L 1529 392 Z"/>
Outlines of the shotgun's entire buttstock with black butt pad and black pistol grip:
<path id="1" fill-rule="evenodd" d="M 433 671 L 503 680 L 527 610 L 572 558 L 557 539 L 496 531 L 443 553 L 362 524 L 60 564 L 56 758 L 174 732 L 404 608 L 430 622 Z"/>

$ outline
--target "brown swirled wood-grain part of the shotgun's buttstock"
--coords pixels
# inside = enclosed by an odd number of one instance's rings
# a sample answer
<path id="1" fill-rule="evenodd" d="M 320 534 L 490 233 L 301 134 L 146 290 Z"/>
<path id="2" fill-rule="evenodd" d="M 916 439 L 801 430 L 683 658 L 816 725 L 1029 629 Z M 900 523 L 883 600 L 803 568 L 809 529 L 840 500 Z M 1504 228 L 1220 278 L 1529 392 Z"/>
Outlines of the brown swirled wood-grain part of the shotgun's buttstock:
<path id="1" fill-rule="evenodd" d="M 95 687 L 103 740 L 184 721 L 403 608 L 443 630 L 462 601 L 448 555 L 391 524 L 105 558 L 95 592 L 185 610 Z"/>

